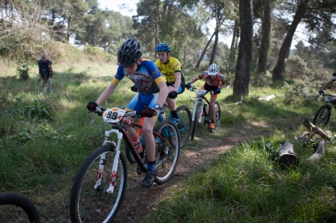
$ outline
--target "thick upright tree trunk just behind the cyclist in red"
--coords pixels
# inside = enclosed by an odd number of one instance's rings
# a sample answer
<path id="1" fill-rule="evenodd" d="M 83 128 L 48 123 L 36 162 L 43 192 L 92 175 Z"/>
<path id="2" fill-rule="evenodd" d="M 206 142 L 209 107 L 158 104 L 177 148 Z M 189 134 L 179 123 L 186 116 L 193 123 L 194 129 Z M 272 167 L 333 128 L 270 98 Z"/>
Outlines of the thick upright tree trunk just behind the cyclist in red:
<path id="1" fill-rule="evenodd" d="M 249 76 L 251 76 L 252 62 L 252 36 L 253 36 L 253 11 L 252 0 L 239 2 L 240 15 L 240 41 L 236 73 L 233 82 L 233 95 L 249 94 Z"/>

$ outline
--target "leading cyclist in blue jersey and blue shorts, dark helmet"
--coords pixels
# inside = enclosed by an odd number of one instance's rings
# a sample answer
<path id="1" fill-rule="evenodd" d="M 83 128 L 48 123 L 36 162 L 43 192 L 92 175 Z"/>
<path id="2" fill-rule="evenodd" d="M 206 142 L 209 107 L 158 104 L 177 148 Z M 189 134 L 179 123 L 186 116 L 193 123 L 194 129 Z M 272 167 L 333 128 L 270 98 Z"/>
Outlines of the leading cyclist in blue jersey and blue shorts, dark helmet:
<path id="1" fill-rule="evenodd" d="M 155 141 L 152 134 L 154 124 L 157 118 L 153 118 L 154 114 L 158 114 L 164 105 L 168 95 L 168 88 L 155 63 L 147 59 L 141 58 L 142 46 L 137 38 L 129 38 L 124 41 L 118 51 L 118 68 L 112 83 L 107 86 L 102 95 L 96 102 L 87 104 L 89 110 L 96 110 L 110 95 L 114 92 L 118 83 L 125 76 L 134 83 L 138 91 L 131 102 L 127 105 L 126 110 L 143 110 L 144 123 L 142 124 L 142 136 L 146 142 L 147 150 L 147 172 L 142 187 L 151 187 L 157 170 L 155 169 Z M 148 105 L 144 108 L 144 105 Z M 127 117 L 129 120 L 134 118 Z M 130 125 L 125 125 L 131 138 L 137 137 L 137 132 Z M 144 145 L 144 143 L 142 143 Z"/>

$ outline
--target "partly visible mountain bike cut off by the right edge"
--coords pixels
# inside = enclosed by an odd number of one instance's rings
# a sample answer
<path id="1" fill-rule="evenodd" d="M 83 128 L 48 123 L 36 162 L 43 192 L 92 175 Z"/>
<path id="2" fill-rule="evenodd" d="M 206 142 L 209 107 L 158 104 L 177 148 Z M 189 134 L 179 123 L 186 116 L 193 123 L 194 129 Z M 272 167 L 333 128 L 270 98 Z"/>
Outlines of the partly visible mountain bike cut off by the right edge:
<path id="1" fill-rule="evenodd" d="M 336 96 L 326 93 L 322 93 L 322 95 L 325 96 L 325 105 L 317 110 L 312 123 L 320 127 L 326 127 L 330 121 L 332 106 L 336 109 Z"/>

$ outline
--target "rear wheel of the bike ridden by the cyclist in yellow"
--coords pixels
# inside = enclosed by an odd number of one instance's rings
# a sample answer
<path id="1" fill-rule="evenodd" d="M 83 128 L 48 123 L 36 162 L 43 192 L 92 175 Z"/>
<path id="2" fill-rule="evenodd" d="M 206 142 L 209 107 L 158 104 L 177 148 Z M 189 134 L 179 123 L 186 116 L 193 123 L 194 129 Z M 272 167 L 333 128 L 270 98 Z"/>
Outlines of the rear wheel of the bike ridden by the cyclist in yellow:
<path id="1" fill-rule="evenodd" d="M 179 146 L 184 147 L 189 140 L 192 130 L 192 113 L 185 105 L 179 106 L 176 112 L 179 116 L 179 123 L 177 125 L 177 128 L 179 129 L 179 138 L 181 139 Z"/>

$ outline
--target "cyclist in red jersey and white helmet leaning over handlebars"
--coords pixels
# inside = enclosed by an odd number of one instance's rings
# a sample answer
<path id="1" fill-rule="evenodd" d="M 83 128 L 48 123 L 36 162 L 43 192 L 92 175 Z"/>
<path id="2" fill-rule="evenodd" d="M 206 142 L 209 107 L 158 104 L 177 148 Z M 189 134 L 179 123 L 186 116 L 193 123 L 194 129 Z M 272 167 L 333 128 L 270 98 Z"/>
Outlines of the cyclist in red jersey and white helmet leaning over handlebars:
<path id="1" fill-rule="evenodd" d="M 199 76 L 195 77 L 185 85 L 186 88 L 191 88 L 192 83 L 205 78 L 204 85 L 201 89 L 204 90 L 212 90 L 214 93 L 211 95 L 210 98 L 210 110 L 211 110 L 211 120 L 209 124 L 209 128 L 214 130 L 214 119 L 216 118 L 216 110 L 214 108 L 214 103 L 216 103 L 218 94 L 222 90 L 222 88 L 225 87 L 226 81 L 224 78 L 224 75 L 222 73 L 219 73 L 219 66 L 216 63 L 212 63 L 212 65 L 209 66 L 209 69 L 207 71 L 204 71 Z"/>

